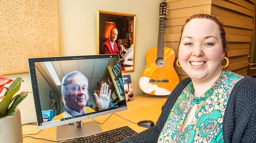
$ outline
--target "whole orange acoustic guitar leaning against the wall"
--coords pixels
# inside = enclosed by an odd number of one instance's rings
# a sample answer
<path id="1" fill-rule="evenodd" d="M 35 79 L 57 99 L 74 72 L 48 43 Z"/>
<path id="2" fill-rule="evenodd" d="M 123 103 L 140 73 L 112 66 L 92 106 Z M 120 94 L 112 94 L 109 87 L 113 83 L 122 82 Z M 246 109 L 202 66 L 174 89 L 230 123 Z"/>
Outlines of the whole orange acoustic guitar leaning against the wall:
<path id="1" fill-rule="evenodd" d="M 158 47 L 147 51 L 147 65 L 139 78 L 140 89 L 150 95 L 170 95 L 179 83 L 179 77 L 173 68 L 175 53 L 172 48 L 164 47 L 164 19 L 167 9 L 167 4 L 162 2 L 159 8 Z"/>

